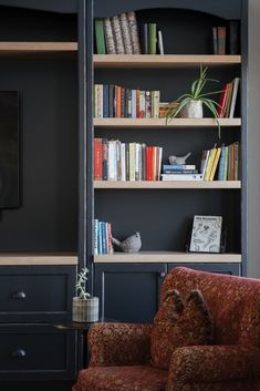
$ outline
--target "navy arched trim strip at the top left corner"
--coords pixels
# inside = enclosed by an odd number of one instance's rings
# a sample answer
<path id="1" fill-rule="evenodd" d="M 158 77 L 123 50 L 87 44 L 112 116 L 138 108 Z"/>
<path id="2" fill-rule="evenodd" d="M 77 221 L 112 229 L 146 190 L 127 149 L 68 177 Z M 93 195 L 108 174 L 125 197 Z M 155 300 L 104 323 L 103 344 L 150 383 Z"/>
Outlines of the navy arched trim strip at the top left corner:
<path id="1" fill-rule="evenodd" d="M 64 13 L 77 12 L 77 0 L 0 0 L 0 6 Z"/>

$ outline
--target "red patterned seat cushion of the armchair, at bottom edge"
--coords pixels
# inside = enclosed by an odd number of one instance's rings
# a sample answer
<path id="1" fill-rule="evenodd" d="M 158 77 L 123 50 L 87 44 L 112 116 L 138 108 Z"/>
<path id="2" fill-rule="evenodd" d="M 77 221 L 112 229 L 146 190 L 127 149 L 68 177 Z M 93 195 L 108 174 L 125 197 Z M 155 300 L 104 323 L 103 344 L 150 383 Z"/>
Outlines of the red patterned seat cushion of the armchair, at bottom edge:
<path id="1" fill-rule="evenodd" d="M 90 367 L 73 391 L 164 391 L 168 372 L 153 367 Z"/>

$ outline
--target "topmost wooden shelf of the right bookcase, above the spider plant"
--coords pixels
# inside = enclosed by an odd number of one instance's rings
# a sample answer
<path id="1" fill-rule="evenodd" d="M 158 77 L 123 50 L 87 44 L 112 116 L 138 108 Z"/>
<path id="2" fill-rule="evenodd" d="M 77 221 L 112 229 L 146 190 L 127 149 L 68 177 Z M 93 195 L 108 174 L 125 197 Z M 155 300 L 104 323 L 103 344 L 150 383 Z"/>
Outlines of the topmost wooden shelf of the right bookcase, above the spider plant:
<path id="1" fill-rule="evenodd" d="M 95 54 L 95 68 L 177 68 L 236 65 L 241 63 L 241 55 L 215 54 Z"/>

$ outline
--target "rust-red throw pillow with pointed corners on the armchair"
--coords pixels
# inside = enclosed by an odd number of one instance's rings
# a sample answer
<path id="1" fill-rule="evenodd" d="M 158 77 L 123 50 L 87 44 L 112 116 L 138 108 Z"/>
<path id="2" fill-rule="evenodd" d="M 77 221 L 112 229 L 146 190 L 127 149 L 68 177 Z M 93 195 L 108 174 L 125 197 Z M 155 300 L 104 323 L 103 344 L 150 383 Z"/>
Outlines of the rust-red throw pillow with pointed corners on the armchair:
<path id="1" fill-rule="evenodd" d="M 153 323 L 152 366 L 168 370 L 176 348 L 208 344 L 211 341 L 212 322 L 202 294 L 191 290 L 184 303 L 177 290 L 167 292 Z"/>

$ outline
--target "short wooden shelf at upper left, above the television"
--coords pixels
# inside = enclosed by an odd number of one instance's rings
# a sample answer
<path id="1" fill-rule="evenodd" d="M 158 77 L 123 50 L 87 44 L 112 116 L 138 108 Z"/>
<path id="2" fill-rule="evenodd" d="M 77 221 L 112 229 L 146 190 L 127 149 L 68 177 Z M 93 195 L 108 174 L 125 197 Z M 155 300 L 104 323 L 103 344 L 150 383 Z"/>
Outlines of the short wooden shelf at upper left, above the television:
<path id="1" fill-rule="evenodd" d="M 0 56 L 76 51 L 77 42 L 0 42 Z"/>

